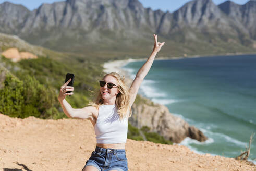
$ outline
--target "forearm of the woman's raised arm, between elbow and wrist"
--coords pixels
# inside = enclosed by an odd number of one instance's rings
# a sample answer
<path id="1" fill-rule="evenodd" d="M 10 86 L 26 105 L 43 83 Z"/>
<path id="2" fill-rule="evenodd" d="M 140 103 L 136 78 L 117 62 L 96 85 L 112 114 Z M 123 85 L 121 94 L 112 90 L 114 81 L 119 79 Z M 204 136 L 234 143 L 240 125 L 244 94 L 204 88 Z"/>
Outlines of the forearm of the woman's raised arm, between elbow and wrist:
<path id="1" fill-rule="evenodd" d="M 147 61 L 142 65 L 142 67 L 137 72 L 136 77 L 139 77 L 142 80 L 145 78 L 145 76 L 148 74 L 148 72 L 154 62 L 156 54 L 157 54 L 156 51 L 152 51 L 150 57 L 147 59 Z"/>

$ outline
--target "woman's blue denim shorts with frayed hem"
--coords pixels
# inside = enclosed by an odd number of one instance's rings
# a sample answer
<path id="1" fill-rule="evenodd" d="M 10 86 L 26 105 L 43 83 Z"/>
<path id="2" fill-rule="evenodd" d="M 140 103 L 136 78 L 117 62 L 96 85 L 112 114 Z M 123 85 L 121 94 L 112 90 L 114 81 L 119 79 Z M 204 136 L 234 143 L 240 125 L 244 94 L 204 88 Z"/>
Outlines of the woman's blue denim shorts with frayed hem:
<path id="1" fill-rule="evenodd" d="M 128 164 L 125 149 L 105 149 L 96 146 L 83 169 L 86 166 L 94 166 L 99 171 L 127 171 Z"/>

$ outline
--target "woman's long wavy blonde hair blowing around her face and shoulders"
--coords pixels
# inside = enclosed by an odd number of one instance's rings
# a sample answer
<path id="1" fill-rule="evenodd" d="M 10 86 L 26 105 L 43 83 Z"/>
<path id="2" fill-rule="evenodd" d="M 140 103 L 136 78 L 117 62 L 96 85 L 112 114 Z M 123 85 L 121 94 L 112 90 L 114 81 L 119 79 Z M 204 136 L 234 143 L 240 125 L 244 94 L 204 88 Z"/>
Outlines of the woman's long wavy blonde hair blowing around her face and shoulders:
<path id="1" fill-rule="evenodd" d="M 109 74 L 106 74 L 103 79 L 107 76 L 112 76 L 114 78 L 116 78 L 117 82 L 118 82 L 118 90 L 120 93 L 118 93 L 116 95 L 116 106 L 117 106 L 117 113 L 120 116 L 120 119 L 124 119 L 125 117 L 127 117 L 127 113 L 129 112 L 129 116 L 131 116 L 132 112 L 131 112 L 131 106 L 130 106 L 130 94 L 129 94 L 129 88 L 126 86 L 125 84 L 125 76 L 121 76 L 116 72 L 111 72 Z M 96 107 L 97 109 L 99 109 L 100 105 L 102 105 L 104 102 L 104 100 L 102 99 L 101 96 L 101 92 L 99 92 L 99 94 L 96 97 L 96 100 L 92 103 L 90 103 L 89 105 Z"/>

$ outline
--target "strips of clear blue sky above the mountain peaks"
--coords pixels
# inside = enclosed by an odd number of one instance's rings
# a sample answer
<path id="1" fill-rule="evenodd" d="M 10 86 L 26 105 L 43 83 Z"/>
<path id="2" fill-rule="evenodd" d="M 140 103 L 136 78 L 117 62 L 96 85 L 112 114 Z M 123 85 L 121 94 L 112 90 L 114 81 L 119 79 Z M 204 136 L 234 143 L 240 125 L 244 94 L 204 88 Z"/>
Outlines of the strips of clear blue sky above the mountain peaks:
<path id="1" fill-rule="evenodd" d="M 5 2 L 6 0 L 0 0 L 0 4 Z M 60 0 L 9 0 L 9 2 L 14 4 L 22 4 L 26 6 L 28 9 L 33 10 L 38 8 L 42 3 L 53 3 Z M 64 1 L 64 0 L 62 0 Z M 118 1 L 118 0 L 116 0 Z M 170 11 L 173 12 L 179 9 L 182 5 L 189 2 L 190 0 L 139 0 L 144 7 L 151 7 L 153 10 L 161 9 L 162 11 Z M 226 0 L 212 0 L 216 5 L 225 2 Z M 233 2 L 237 4 L 245 4 L 249 0 L 233 0 Z"/>

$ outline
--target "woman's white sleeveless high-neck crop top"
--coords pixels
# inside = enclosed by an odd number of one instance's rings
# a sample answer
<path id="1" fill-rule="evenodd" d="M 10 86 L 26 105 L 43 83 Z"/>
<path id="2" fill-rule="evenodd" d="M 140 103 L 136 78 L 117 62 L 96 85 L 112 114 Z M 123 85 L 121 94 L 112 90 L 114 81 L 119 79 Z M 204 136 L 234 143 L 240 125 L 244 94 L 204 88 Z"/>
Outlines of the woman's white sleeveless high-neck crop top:
<path id="1" fill-rule="evenodd" d="M 126 143 L 128 119 L 119 119 L 116 105 L 100 105 L 99 115 L 94 125 L 97 143 Z"/>

